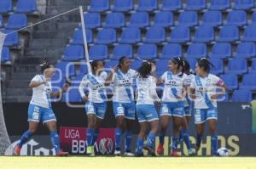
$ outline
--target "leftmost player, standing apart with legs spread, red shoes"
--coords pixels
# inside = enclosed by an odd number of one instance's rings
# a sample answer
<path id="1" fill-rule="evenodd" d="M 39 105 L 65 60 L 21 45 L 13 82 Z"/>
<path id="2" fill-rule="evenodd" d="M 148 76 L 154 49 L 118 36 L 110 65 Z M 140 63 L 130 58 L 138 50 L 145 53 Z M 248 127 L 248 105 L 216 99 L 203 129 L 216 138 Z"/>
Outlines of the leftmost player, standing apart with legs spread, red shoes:
<path id="1" fill-rule="evenodd" d="M 21 136 L 20 143 L 15 146 L 14 154 L 20 155 L 22 145 L 25 144 L 26 140 L 37 131 L 39 122 L 43 121 L 49 129 L 50 139 L 55 148 L 56 155 L 65 156 L 68 155 L 68 153 L 60 149 L 56 117 L 51 108 L 50 99 L 65 93 L 67 91 L 68 84 L 65 84 L 60 91 L 52 92 L 50 80 L 55 74 L 55 68 L 47 62 L 44 62 L 40 66 L 42 74 L 34 76 L 29 84 L 29 87 L 32 88 L 32 100 L 27 111 L 29 129 Z"/>

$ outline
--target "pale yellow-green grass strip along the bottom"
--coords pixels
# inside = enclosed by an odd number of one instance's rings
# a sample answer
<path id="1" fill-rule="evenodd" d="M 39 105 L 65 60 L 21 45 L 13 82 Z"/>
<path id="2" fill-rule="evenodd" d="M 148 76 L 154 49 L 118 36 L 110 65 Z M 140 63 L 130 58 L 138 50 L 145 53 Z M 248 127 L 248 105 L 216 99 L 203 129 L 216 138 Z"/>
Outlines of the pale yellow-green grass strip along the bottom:
<path id="1" fill-rule="evenodd" d="M 1 169 L 255 169 L 256 157 L 0 157 Z"/>

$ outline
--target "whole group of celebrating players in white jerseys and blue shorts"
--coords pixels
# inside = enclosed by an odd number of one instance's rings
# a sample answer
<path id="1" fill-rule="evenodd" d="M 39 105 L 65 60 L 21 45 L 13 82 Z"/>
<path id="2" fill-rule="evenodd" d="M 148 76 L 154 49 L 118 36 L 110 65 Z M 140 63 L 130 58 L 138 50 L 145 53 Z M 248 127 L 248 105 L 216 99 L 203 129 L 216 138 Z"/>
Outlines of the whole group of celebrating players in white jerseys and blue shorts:
<path id="1" fill-rule="evenodd" d="M 158 77 L 156 65 L 148 60 L 143 60 L 138 70 L 131 70 L 131 59 L 121 57 L 119 65 L 114 67 L 109 74 L 104 71 L 102 60 L 90 62 L 91 72 L 83 77 L 79 85 L 79 93 L 85 102 L 85 113 L 88 119 L 87 154 L 95 155 L 94 144 L 107 110 L 106 87 L 110 86 L 113 87 L 113 114 L 116 119 L 114 155 L 121 155 L 120 141 L 124 134 L 124 155 L 133 156 L 131 128 L 135 121 L 135 114 L 140 126 L 137 136 L 137 156 L 143 156 L 143 149 L 147 149 L 149 155 L 155 155 L 154 139 L 156 135 L 160 136 L 157 154 L 163 154 L 164 138 L 170 120 L 172 120 L 173 127 L 172 156 L 179 156 L 177 144 L 181 140 L 186 144 L 189 155 L 195 155 L 196 151 L 200 149 L 206 122 L 211 134 L 212 155 L 217 155 L 217 99 L 226 90 L 224 82 L 218 76 L 210 73 L 213 65 L 207 58 L 198 60 L 195 74 L 191 72 L 189 62 L 185 59 L 170 59 L 167 66 L 169 70 Z M 52 97 L 66 92 L 68 85 L 65 84 L 60 91 L 52 92 L 50 78 L 54 75 L 55 69 L 48 63 L 43 63 L 41 68 L 42 74 L 33 77 L 29 84 L 33 91 L 28 108 L 29 129 L 21 136 L 20 143 L 15 146 L 14 154 L 20 155 L 22 145 L 36 132 L 38 123 L 43 121 L 49 128 L 56 155 L 68 155 L 67 152 L 60 149 L 56 118 L 50 102 Z M 136 80 L 137 97 L 133 90 L 133 80 Z M 161 99 L 156 92 L 157 86 L 160 85 L 163 86 Z M 221 88 L 221 92 L 217 93 L 218 87 Z M 88 89 L 88 93 L 84 93 L 84 88 Z M 155 102 L 161 104 L 159 113 L 154 106 Z M 196 126 L 195 149 L 191 148 L 187 132 L 192 110 L 194 110 Z M 148 124 L 150 132 L 147 134 Z M 146 144 L 144 144 L 145 139 L 147 140 Z"/>

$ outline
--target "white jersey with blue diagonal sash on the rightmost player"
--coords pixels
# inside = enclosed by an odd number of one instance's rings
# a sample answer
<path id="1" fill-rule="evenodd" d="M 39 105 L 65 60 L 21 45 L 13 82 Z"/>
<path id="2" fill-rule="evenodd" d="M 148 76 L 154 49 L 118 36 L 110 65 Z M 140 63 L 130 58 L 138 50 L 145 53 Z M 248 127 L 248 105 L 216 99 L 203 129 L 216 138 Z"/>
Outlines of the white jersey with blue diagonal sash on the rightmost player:
<path id="1" fill-rule="evenodd" d="M 195 109 L 209 109 L 212 106 L 217 107 L 217 101 L 212 100 L 213 94 L 216 94 L 218 85 L 224 82 L 215 75 L 209 74 L 207 77 L 194 76 L 191 88 L 195 88 Z"/>

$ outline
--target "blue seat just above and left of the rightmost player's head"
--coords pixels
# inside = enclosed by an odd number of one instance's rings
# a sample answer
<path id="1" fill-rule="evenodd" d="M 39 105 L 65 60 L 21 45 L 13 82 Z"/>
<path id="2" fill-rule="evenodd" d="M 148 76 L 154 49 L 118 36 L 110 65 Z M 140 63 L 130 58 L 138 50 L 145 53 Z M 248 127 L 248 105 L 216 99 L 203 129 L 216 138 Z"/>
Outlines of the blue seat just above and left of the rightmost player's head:
<path id="1" fill-rule="evenodd" d="M 192 43 L 189 45 L 187 58 L 200 59 L 207 56 L 207 45 L 205 43 Z"/>

